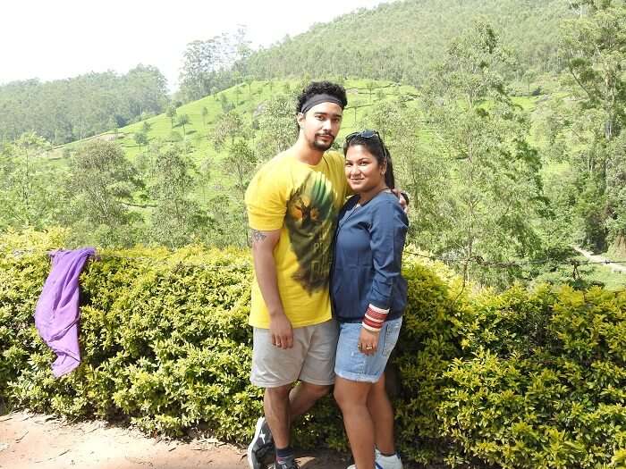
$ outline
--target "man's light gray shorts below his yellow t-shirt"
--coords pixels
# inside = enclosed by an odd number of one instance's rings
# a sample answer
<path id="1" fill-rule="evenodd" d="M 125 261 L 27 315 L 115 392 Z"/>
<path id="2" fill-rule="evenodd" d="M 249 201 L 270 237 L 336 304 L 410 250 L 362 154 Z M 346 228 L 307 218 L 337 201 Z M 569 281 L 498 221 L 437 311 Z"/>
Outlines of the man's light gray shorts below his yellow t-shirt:
<path id="1" fill-rule="evenodd" d="M 294 381 L 320 386 L 334 383 L 334 354 L 338 326 L 334 319 L 293 329 L 293 347 L 272 345 L 269 329 L 253 331 L 250 381 L 261 388 L 277 388 Z"/>

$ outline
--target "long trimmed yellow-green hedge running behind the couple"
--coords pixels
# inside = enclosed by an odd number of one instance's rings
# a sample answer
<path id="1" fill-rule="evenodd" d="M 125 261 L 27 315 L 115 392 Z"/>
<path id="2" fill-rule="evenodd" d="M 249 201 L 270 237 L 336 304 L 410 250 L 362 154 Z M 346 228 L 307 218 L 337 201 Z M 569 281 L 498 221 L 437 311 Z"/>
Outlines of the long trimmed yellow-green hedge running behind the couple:
<path id="1" fill-rule="evenodd" d="M 32 314 L 62 230 L 0 235 L 0 399 L 144 431 L 250 439 L 250 257 L 187 247 L 104 251 L 81 276 L 82 362 L 55 380 Z M 407 256 L 409 307 L 392 367 L 407 460 L 462 467 L 601 468 L 626 460 L 626 293 L 518 287 L 461 293 Z M 325 398 L 298 444 L 346 448 Z"/>

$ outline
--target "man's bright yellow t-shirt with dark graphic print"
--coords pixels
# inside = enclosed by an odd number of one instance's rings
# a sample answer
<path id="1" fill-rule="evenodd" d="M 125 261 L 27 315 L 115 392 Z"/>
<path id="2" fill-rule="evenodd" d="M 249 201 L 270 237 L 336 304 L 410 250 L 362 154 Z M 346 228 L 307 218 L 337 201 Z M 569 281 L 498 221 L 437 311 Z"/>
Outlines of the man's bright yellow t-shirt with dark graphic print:
<path id="1" fill-rule="evenodd" d="M 326 152 L 311 166 L 288 150 L 264 164 L 246 191 L 250 228 L 281 229 L 274 250 L 276 280 L 293 327 L 331 318 L 328 276 L 336 218 L 347 192 L 343 166 L 337 152 Z M 269 328 L 256 275 L 250 325 Z"/>

